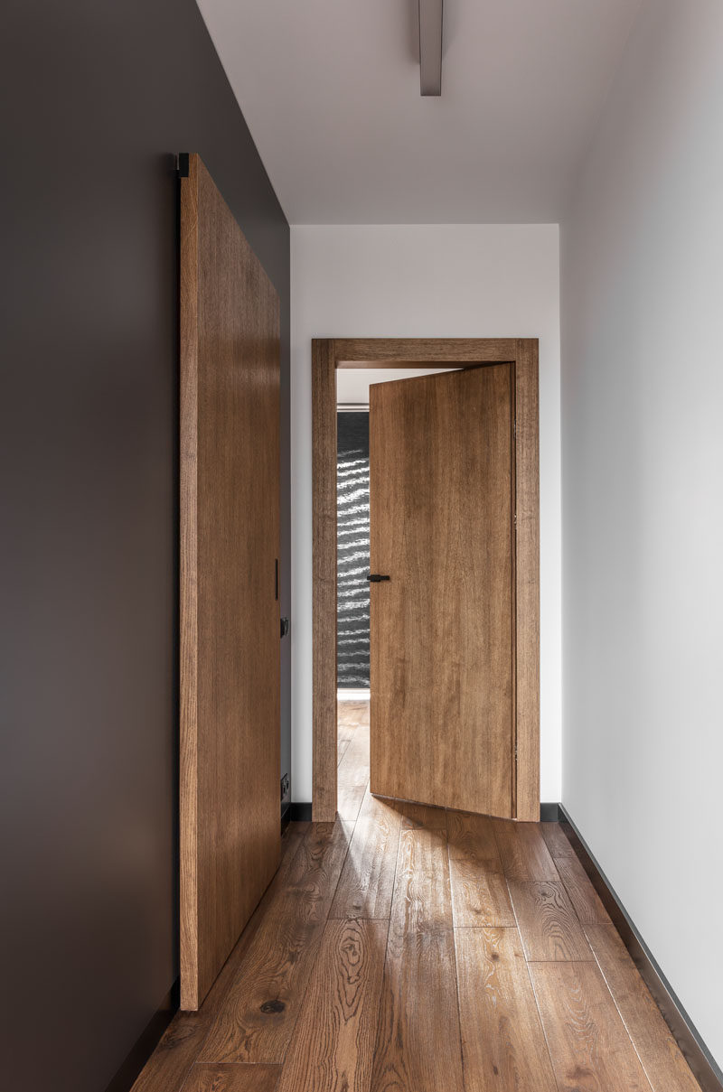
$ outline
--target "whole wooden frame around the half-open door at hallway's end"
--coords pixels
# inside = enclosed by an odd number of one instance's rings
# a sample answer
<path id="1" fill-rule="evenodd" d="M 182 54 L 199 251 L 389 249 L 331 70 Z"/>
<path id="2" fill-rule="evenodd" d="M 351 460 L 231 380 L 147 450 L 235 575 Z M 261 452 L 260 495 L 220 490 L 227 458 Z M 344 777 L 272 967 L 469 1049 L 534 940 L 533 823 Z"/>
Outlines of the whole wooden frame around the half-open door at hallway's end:
<path id="1" fill-rule="evenodd" d="M 313 339 L 312 818 L 336 817 L 336 369 L 469 368 L 510 364 L 514 375 L 513 700 L 517 814 L 540 820 L 540 411 L 536 337 Z"/>

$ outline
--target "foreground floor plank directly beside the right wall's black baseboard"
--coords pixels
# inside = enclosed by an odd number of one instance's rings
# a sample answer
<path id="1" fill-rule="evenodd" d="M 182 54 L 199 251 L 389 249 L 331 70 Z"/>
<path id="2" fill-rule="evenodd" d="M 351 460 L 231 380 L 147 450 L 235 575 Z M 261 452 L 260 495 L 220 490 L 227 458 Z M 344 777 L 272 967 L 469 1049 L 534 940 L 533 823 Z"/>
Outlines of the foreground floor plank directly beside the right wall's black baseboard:
<path id="1" fill-rule="evenodd" d="M 615 926 L 589 925 L 585 934 L 653 1092 L 700 1092 Z"/>

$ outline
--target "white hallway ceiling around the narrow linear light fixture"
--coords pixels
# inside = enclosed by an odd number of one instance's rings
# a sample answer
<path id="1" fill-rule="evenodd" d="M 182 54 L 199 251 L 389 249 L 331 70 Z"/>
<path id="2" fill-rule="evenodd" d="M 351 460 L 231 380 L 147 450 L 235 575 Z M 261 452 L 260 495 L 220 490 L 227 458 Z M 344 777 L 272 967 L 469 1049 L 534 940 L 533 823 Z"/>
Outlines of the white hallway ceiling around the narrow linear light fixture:
<path id="1" fill-rule="evenodd" d="M 292 224 L 556 223 L 639 0 L 199 0 Z"/>

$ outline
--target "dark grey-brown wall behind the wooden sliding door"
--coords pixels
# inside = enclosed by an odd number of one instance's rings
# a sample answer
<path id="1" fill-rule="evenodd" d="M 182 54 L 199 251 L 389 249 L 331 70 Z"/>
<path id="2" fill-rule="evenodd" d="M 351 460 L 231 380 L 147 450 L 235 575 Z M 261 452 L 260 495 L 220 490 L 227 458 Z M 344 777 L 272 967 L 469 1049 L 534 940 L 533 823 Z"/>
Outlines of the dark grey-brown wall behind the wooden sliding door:
<path id="1" fill-rule="evenodd" d="M 282 300 L 286 615 L 289 234 L 193 0 L 5 0 L 0 81 L 2 1084 L 102 1092 L 178 973 L 173 153 Z"/>

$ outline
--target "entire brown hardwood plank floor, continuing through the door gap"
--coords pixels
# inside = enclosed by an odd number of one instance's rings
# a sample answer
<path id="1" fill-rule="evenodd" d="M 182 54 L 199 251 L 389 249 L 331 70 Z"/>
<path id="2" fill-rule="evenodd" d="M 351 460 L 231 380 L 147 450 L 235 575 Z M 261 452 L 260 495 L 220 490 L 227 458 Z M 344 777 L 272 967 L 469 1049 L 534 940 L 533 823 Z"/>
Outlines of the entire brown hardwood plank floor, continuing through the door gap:
<path id="1" fill-rule="evenodd" d="M 562 830 L 370 796 L 345 705 L 340 818 L 134 1092 L 699 1092 Z"/>

